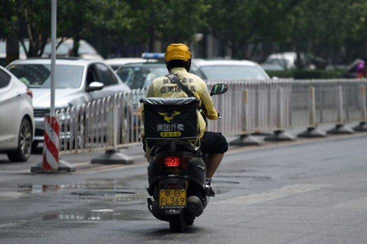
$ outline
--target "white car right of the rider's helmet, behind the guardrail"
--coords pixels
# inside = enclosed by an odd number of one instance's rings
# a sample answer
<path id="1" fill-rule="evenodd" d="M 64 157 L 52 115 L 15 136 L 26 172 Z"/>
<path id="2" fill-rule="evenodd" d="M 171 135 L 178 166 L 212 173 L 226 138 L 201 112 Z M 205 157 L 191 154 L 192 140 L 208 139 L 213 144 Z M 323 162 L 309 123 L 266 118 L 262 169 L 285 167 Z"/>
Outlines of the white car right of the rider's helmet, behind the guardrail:
<path id="1" fill-rule="evenodd" d="M 192 66 L 197 67 L 207 80 L 270 79 L 258 64 L 248 60 L 193 59 Z"/>

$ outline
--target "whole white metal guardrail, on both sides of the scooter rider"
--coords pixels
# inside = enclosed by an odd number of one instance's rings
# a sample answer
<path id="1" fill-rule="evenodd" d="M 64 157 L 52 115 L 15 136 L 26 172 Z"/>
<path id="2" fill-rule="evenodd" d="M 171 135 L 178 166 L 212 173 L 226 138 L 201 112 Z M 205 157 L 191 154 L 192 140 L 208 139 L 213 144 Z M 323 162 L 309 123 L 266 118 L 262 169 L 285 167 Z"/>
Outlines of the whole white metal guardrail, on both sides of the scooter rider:
<path id="1" fill-rule="evenodd" d="M 214 81 L 228 92 L 213 96 L 221 120 L 207 130 L 224 135 L 316 128 L 318 125 L 366 123 L 367 79 Z M 56 113 L 60 154 L 117 150 L 140 145 L 140 102 L 145 89 L 120 93 Z"/>

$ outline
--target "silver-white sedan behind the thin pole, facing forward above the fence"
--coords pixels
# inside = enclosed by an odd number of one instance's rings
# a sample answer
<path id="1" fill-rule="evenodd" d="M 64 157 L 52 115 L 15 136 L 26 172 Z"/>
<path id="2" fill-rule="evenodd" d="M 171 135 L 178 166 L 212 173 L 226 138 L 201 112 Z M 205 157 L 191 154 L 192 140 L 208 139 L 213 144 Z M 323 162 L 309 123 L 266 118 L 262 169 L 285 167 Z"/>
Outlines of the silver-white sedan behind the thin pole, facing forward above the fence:
<path id="1" fill-rule="evenodd" d="M 33 147 L 43 141 L 44 116 L 49 114 L 51 93 L 51 60 L 15 60 L 6 67 L 33 92 L 35 136 Z M 103 61 L 78 58 L 56 59 L 55 110 L 83 104 L 120 92 L 128 92 L 125 85 Z"/>

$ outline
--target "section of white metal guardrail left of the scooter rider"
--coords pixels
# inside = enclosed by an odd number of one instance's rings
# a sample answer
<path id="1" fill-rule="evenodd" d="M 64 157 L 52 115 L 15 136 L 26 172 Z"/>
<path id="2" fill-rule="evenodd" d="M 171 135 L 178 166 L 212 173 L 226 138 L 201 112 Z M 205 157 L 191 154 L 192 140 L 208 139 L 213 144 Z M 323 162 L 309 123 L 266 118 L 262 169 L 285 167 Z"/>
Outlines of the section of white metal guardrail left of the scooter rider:
<path id="1" fill-rule="evenodd" d="M 141 144 L 140 98 L 146 89 L 119 93 L 56 112 L 60 154 L 116 150 Z"/>

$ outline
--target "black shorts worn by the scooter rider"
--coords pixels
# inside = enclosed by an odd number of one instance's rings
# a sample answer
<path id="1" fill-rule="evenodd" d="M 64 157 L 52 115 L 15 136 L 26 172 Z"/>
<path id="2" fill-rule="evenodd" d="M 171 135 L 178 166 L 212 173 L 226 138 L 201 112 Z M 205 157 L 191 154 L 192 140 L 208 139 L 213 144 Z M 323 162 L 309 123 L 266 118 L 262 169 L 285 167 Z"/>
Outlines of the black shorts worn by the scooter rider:
<path id="1" fill-rule="evenodd" d="M 157 141 L 149 141 L 149 147 L 152 148 L 156 142 Z M 227 140 L 220 132 L 205 131 L 200 140 L 200 145 L 202 153 L 224 153 L 228 150 Z M 143 150 L 147 152 L 145 148 L 145 139 L 143 139 Z"/>

